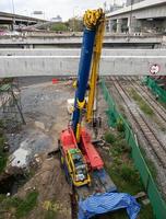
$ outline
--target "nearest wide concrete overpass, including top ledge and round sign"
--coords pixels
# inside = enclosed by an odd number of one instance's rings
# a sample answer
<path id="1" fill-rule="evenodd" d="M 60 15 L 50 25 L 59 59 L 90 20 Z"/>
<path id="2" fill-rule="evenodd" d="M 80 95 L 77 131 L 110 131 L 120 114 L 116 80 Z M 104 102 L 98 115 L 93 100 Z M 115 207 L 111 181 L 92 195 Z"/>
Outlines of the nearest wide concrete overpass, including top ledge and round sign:
<path id="1" fill-rule="evenodd" d="M 0 78 L 76 76 L 79 49 L 0 50 Z M 104 49 L 100 76 L 166 76 L 166 49 Z"/>

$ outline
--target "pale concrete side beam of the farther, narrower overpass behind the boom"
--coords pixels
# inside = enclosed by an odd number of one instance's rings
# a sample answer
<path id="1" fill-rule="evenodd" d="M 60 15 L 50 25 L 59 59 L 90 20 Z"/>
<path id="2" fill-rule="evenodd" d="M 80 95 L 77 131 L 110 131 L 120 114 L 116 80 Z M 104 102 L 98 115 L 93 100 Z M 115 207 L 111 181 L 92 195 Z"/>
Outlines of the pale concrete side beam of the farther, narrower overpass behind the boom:
<path id="1" fill-rule="evenodd" d="M 106 35 L 104 44 L 161 44 L 163 36 Z M 0 36 L 0 45 L 74 45 L 82 44 L 82 36 Z"/>

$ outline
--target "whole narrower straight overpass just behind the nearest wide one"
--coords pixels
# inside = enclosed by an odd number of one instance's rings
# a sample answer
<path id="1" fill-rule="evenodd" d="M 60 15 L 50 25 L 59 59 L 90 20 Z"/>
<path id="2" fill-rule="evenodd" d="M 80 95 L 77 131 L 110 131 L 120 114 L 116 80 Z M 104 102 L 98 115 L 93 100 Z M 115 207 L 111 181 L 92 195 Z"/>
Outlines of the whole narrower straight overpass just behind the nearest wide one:
<path id="1" fill-rule="evenodd" d="M 104 46 L 142 46 L 146 48 L 159 47 L 163 44 L 163 35 L 127 35 L 106 34 Z M 46 47 L 80 47 L 82 45 L 82 34 L 55 34 L 33 32 L 19 36 L 0 36 L 0 47 L 3 48 L 46 48 Z"/>

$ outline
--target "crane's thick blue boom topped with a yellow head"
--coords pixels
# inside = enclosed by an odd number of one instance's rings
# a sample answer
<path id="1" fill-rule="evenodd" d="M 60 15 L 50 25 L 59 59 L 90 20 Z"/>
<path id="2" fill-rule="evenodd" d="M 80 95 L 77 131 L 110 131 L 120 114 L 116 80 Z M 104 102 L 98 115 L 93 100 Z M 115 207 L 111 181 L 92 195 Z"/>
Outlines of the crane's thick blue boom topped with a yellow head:
<path id="1" fill-rule="evenodd" d="M 81 49 L 81 58 L 79 65 L 76 91 L 74 99 L 74 112 L 72 116 L 72 127 L 76 137 L 76 141 L 80 141 L 80 128 L 82 110 L 85 105 L 85 93 L 88 87 L 88 78 L 91 71 L 91 62 L 95 43 L 95 36 L 97 26 L 103 19 L 103 10 L 87 10 L 84 15 L 84 34 L 83 44 Z"/>

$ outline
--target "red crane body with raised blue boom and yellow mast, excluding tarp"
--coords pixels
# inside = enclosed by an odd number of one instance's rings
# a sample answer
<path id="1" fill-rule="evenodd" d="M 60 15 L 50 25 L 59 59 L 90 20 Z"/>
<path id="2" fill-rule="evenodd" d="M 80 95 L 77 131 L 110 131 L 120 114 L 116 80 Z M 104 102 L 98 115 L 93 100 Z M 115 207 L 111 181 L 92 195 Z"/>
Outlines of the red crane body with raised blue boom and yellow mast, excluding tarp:
<path id="1" fill-rule="evenodd" d="M 90 123 L 93 118 L 93 104 L 105 28 L 103 10 L 86 11 L 84 25 L 72 124 L 60 136 L 61 162 L 66 166 L 68 177 L 75 186 L 91 184 L 90 170 L 99 170 L 104 166 L 103 160 L 91 143 L 88 131 L 81 125 L 87 90 L 86 120 Z"/>

